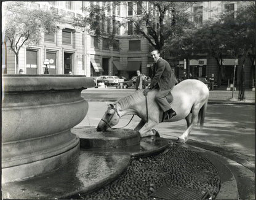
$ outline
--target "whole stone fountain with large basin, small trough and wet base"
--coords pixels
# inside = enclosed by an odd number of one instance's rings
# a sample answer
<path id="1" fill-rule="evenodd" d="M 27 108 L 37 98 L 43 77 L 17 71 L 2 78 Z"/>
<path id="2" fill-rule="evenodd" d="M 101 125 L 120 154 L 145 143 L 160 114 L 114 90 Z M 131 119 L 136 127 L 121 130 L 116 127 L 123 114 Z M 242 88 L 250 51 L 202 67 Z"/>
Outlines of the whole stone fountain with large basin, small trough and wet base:
<path id="1" fill-rule="evenodd" d="M 4 75 L 2 196 L 67 198 L 110 183 L 131 156 L 159 152 L 160 139 L 137 131 L 73 128 L 88 110 L 81 91 L 94 81 L 81 75 Z M 119 146 L 124 148 L 119 148 Z"/>

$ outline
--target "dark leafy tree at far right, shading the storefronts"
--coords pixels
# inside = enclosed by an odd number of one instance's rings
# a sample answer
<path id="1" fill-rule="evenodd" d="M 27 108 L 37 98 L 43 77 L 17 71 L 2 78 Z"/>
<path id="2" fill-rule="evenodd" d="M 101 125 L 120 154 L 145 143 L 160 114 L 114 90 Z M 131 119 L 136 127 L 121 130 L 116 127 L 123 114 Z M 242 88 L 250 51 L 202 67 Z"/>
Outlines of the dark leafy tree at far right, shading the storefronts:
<path id="1" fill-rule="evenodd" d="M 249 57 L 252 66 L 255 59 L 255 2 L 250 6 L 241 7 L 233 12 L 223 12 L 217 21 L 204 21 L 198 31 L 191 37 L 200 40 L 194 42 L 194 48 L 205 50 L 215 58 L 218 64 L 218 87 L 222 80 L 222 56 L 233 58 L 243 57 L 243 62 Z M 235 16 L 235 17 L 234 17 Z M 252 67 L 253 68 L 253 67 Z"/>

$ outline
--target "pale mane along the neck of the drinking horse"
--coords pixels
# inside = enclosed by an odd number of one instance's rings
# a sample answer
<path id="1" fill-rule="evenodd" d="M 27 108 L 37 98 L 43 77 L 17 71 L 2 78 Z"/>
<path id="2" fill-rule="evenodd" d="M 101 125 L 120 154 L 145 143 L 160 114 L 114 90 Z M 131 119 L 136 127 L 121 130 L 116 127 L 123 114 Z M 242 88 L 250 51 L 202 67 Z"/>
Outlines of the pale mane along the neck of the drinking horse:
<path id="1" fill-rule="evenodd" d="M 143 91 L 137 90 L 132 94 L 125 96 L 124 98 L 116 101 L 121 106 L 121 110 L 127 109 L 130 106 L 136 104 L 143 97 Z"/>

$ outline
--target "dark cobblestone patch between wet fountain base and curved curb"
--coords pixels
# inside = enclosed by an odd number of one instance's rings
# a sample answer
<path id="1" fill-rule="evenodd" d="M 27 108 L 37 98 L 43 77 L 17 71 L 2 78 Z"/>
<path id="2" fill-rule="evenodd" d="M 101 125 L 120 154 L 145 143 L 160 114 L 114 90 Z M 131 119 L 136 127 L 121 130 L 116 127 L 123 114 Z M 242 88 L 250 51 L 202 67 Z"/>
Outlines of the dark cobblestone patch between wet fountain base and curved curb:
<path id="1" fill-rule="evenodd" d="M 184 147 L 172 145 L 159 155 L 130 161 L 130 166 L 117 180 L 97 191 L 82 194 L 81 198 L 150 199 L 154 191 L 165 185 L 170 190 L 186 190 L 190 197 L 190 190 L 197 191 L 197 199 L 206 192 L 215 198 L 220 189 L 220 177 L 209 160 Z M 175 193 L 172 195 L 174 199 L 182 198 Z"/>

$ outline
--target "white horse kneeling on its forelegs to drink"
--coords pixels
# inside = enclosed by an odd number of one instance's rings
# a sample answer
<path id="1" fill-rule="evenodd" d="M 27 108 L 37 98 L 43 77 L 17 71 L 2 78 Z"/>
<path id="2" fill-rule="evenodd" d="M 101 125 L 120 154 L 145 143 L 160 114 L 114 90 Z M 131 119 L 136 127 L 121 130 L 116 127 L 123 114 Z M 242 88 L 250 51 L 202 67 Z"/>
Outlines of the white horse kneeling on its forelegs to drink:
<path id="1" fill-rule="evenodd" d="M 187 129 L 178 137 L 177 142 L 186 143 L 191 129 L 197 123 L 200 123 L 201 129 L 204 125 L 209 89 L 205 83 L 196 79 L 183 80 L 175 85 L 171 90 L 173 101 L 170 105 L 177 115 L 164 121 L 162 121 L 164 113 L 155 101 L 157 92 L 158 90 L 153 89 L 145 97 L 143 91 L 137 90 L 113 104 L 109 104 L 98 123 L 97 131 L 112 128 L 124 115 L 137 115 L 141 120 L 135 130 L 140 133 L 141 137 L 159 136 L 158 131 L 152 129 L 158 123 L 179 121 L 185 118 Z"/>

